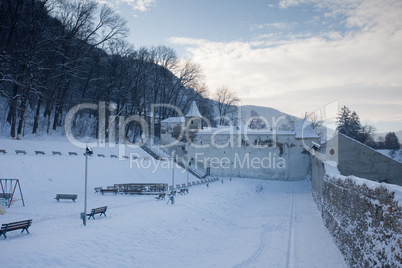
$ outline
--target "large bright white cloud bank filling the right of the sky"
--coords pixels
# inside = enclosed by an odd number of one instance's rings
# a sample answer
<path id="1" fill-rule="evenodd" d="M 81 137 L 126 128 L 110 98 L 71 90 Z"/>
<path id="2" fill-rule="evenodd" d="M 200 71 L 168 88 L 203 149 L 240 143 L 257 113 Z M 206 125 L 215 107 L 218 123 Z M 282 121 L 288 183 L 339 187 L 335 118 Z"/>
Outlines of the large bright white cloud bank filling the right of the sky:
<path id="1" fill-rule="evenodd" d="M 179 37 L 170 42 L 187 46 L 211 90 L 227 85 L 247 104 L 300 115 L 296 111 L 303 114 L 308 109 L 302 105 L 312 109 L 320 105 L 318 100 L 325 105 L 335 98 L 357 112 L 354 104 L 365 110 L 367 120 L 392 115 L 401 121 L 402 114 L 394 109 L 402 107 L 402 1 L 282 0 L 280 7 L 305 3 L 314 4 L 328 17 L 342 18 L 348 30 L 270 34 L 248 42 Z M 387 100 L 393 104 L 387 106 Z"/>

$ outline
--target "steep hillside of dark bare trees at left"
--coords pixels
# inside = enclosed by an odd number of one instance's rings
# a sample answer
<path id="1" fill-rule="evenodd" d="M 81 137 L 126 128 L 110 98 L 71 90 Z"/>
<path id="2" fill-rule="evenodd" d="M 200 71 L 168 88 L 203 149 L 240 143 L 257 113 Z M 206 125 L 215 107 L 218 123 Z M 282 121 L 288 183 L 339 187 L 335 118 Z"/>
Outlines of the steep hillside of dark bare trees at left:
<path id="1" fill-rule="evenodd" d="M 156 103 L 186 111 L 197 100 L 211 115 L 198 65 L 165 46 L 134 49 L 127 34 L 126 21 L 96 1 L 0 0 L 1 131 L 62 133 L 80 103 L 105 102 L 115 108 L 108 117 L 144 115 Z M 156 114 L 164 119 L 172 110 Z M 80 135 L 96 136 L 92 116 L 75 118 Z M 138 129 L 131 124 L 126 134 L 134 139 Z"/>

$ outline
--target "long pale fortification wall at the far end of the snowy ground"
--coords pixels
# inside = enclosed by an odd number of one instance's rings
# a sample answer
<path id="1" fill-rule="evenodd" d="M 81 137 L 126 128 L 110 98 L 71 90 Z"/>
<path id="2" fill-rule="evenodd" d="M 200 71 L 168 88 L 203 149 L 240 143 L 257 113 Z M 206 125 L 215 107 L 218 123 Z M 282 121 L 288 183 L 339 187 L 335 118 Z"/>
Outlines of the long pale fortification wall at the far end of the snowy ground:
<path id="1" fill-rule="evenodd" d="M 310 154 L 306 150 L 311 141 L 296 139 L 293 132 L 221 134 L 216 138 L 197 135 L 186 151 L 193 157 L 192 166 L 204 172 L 209 167 L 212 176 L 295 181 L 305 179 L 311 172 Z"/>

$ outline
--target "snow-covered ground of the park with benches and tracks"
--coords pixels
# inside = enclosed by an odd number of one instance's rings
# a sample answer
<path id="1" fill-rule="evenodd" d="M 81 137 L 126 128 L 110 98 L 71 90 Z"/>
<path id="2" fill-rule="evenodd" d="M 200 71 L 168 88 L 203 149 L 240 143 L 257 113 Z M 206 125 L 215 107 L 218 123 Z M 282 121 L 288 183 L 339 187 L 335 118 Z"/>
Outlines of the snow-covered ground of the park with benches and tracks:
<path id="1" fill-rule="evenodd" d="M 25 207 L 17 201 L 6 208 L 0 223 L 33 219 L 29 235 L 13 231 L 0 238 L 0 267 L 346 267 L 308 180 L 225 178 L 190 188 L 174 205 L 154 196 L 101 195 L 94 187 L 170 185 L 172 169 L 167 162 L 144 160 L 148 155 L 141 149 L 127 149 L 141 157 L 130 167 L 129 160 L 110 158 L 116 148 L 94 148 L 88 209 L 108 210 L 107 217 L 97 215 L 84 226 L 83 149 L 62 140 L 8 139 L 0 139 L 0 149 L 8 152 L 0 154 L 0 178 L 19 179 L 25 200 Z M 27 154 L 16 155 L 16 149 Z M 79 154 L 69 156 L 69 151 Z M 186 182 L 181 168 L 174 174 L 175 184 Z M 58 193 L 78 194 L 77 202 L 57 202 Z"/>

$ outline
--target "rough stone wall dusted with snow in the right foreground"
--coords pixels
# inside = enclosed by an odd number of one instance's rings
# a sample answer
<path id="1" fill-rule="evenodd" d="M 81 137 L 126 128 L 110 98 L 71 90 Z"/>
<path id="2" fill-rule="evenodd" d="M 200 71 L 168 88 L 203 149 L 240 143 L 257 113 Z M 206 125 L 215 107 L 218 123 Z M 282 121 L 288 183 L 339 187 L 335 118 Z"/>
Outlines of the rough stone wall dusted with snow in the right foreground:
<path id="1" fill-rule="evenodd" d="M 319 161 L 312 165 L 320 169 Z M 402 188 L 327 173 L 312 174 L 312 191 L 345 260 L 351 267 L 402 267 Z"/>

